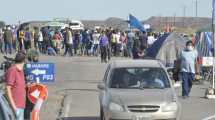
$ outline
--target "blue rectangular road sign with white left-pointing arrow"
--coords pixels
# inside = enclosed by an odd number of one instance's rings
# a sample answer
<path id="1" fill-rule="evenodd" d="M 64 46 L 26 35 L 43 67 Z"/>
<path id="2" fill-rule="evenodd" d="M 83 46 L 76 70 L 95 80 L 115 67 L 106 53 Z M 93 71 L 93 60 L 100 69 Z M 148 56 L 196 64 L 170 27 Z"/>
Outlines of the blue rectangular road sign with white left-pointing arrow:
<path id="1" fill-rule="evenodd" d="M 54 63 L 27 63 L 25 69 L 29 82 L 50 83 L 55 81 Z"/>

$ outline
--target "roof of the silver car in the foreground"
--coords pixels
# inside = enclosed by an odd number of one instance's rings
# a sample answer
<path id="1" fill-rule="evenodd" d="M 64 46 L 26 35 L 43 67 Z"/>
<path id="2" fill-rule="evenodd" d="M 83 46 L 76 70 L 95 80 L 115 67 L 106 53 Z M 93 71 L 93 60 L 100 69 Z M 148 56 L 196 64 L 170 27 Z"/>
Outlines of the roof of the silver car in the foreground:
<path id="1" fill-rule="evenodd" d="M 145 59 L 145 60 L 114 60 L 111 62 L 114 68 L 126 67 L 162 67 L 158 60 Z"/>

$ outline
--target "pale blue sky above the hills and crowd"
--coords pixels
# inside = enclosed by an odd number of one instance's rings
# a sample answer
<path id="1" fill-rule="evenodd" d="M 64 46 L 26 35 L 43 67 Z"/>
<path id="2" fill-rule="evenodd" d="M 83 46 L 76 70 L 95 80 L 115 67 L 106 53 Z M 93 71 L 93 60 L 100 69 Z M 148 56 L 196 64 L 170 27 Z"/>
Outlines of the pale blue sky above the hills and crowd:
<path id="1" fill-rule="evenodd" d="M 0 20 L 18 21 L 73 18 L 105 20 L 128 18 L 131 13 L 141 20 L 151 16 L 195 16 L 196 0 L 0 0 Z M 198 0 L 198 16 L 211 17 L 212 0 Z"/>

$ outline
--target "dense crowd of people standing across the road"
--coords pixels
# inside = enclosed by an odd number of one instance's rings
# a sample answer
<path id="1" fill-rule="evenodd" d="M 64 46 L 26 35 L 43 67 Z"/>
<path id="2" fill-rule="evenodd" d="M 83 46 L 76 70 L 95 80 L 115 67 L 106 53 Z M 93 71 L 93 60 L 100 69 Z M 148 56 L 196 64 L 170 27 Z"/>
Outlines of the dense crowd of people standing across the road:
<path id="1" fill-rule="evenodd" d="M 101 56 L 107 62 L 111 56 L 140 58 L 158 34 L 140 31 L 108 29 L 72 30 L 42 27 L 34 29 L 6 26 L 0 29 L 0 52 L 36 49 L 47 55 Z"/>

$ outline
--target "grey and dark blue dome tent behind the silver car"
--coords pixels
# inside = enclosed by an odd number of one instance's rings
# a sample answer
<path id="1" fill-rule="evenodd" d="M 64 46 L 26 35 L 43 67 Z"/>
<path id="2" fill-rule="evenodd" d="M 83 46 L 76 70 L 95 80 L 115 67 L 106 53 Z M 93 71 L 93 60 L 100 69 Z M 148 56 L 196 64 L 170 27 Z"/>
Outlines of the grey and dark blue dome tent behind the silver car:
<path id="1" fill-rule="evenodd" d="M 147 57 L 159 59 L 165 66 L 173 67 L 186 42 L 186 38 L 175 32 L 164 34 L 147 49 Z"/>

